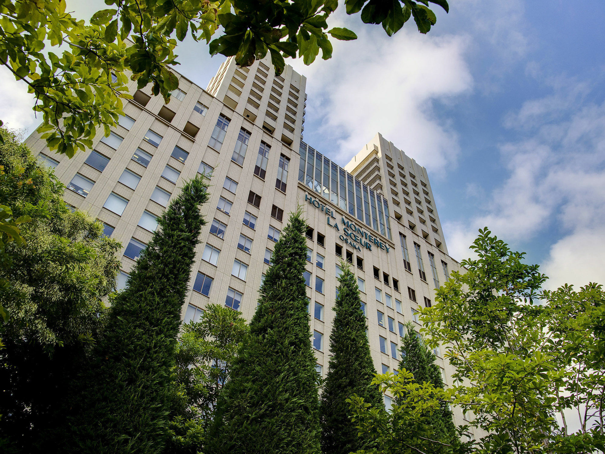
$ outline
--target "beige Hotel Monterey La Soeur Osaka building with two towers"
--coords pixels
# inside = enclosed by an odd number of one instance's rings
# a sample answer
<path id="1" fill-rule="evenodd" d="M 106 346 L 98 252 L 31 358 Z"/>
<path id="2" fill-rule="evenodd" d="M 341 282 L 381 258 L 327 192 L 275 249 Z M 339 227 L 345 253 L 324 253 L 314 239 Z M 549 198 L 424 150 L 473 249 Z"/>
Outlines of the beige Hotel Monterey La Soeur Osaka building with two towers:
<path id="1" fill-rule="evenodd" d="M 290 66 L 275 76 L 269 59 L 240 68 L 229 58 L 206 90 L 177 76 L 169 105 L 131 82 L 126 116 L 73 159 L 48 151 L 39 134 L 26 142 L 67 186 L 65 201 L 122 242 L 119 287 L 183 180 L 211 173 L 183 319 L 196 320 L 212 301 L 250 320 L 272 249 L 299 204 L 309 225 L 305 278 L 318 370 L 325 376 L 341 260 L 358 277 L 376 370 L 396 369 L 404 323 L 417 323 L 415 308 L 430 305 L 460 269 L 447 254 L 426 169 L 381 134 L 344 168 L 304 143 L 306 77 Z M 436 354 L 451 384 L 453 371 Z"/>

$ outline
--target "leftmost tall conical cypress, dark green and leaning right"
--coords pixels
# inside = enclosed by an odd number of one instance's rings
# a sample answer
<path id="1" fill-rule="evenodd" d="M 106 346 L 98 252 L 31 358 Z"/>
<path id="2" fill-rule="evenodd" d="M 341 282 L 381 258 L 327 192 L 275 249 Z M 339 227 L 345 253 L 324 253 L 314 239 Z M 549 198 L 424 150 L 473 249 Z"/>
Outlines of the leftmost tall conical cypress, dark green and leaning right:
<path id="1" fill-rule="evenodd" d="M 83 375 L 71 424 L 76 452 L 162 452 L 180 312 L 204 220 L 208 180 L 183 185 L 114 299 Z"/>

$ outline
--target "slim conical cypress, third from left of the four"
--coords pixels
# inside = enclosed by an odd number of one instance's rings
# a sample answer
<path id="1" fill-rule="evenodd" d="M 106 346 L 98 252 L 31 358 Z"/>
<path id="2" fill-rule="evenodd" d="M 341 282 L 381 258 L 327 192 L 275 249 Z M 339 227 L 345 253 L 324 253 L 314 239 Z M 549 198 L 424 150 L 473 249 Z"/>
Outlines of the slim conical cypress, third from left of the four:
<path id="1" fill-rule="evenodd" d="M 372 385 L 374 363 L 370 353 L 367 325 L 355 274 L 342 263 L 338 278 L 336 317 L 330 334 L 330 363 L 321 395 L 321 448 L 324 454 L 348 454 L 367 449 L 368 439 L 358 436 L 349 418 L 347 398 L 356 394 L 373 407 L 382 407 L 382 394 Z"/>

